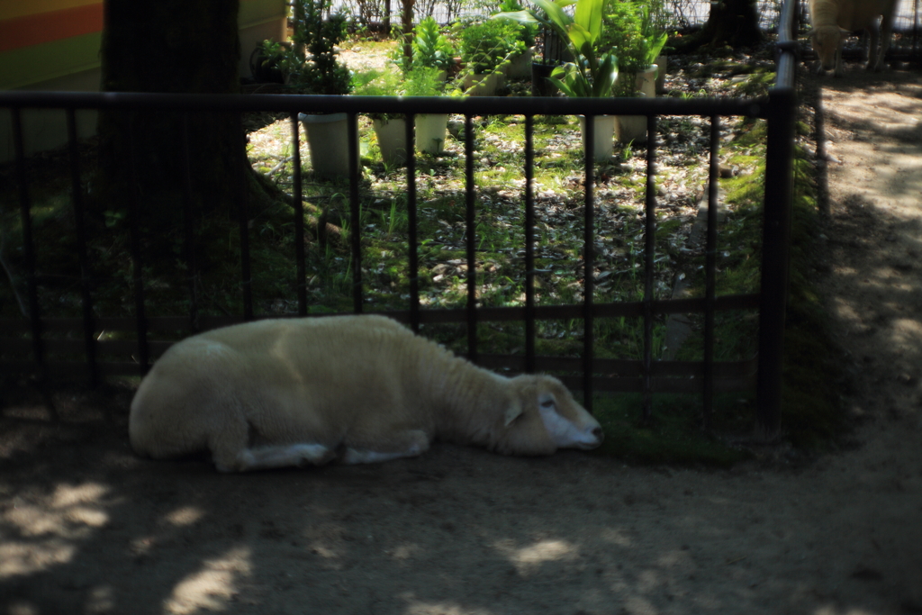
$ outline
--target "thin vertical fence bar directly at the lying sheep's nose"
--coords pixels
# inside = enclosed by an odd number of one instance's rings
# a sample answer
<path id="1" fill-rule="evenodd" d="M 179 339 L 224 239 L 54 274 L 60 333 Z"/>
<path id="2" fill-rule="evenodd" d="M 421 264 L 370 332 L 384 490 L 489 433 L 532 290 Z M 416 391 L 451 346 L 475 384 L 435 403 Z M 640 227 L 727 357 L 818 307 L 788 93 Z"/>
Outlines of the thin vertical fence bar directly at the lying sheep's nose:
<path id="1" fill-rule="evenodd" d="M 596 116 L 586 113 L 583 154 L 585 165 L 585 203 L 583 206 L 583 406 L 592 412 L 592 377 L 595 372 L 596 325 L 593 303 L 596 293 Z"/>

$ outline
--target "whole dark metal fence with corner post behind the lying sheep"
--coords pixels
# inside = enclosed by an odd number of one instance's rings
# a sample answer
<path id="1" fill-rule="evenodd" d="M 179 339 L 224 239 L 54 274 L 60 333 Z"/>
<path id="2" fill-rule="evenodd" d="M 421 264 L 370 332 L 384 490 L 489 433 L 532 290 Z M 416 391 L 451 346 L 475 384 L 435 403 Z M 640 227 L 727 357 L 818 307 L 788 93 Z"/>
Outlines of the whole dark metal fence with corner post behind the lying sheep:
<path id="1" fill-rule="evenodd" d="M 792 13 L 788 3 L 778 43 L 777 79 L 767 97 L 747 100 L 730 99 L 561 99 L 561 98 L 419 98 L 388 99 L 382 97 L 324 97 L 300 95 L 172 95 L 134 93 L 53 93 L 53 92 L 2 92 L 0 108 L 11 110 L 16 149 L 16 170 L 18 176 L 18 208 L 22 225 L 23 262 L 26 268 L 28 291 L 28 316 L 23 318 L 0 318 L 0 371 L 35 372 L 47 376 L 86 375 L 95 382 L 101 376 L 111 374 L 146 373 L 152 360 L 172 343 L 158 334 L 175 334 L 176 331 L 204 330 L 220 325 L 230 325 L 254 318 L 254 298 L 250 255 L 247 252 L 247 212 L 245 201 L 237 207 L 240 227 L 243 309 L 239 315 L 207 316 L 198 313 L 195 291 L 191 290 L 189 313 L 174 316 L 152 317 L 146 315 L 148 294 L 153 292 L 145 286 L 143 254 L 140 248 L 141 232 L 136 220 L 139 205 L 135 200 L 129 203 L 131 258 L 134 272 L 133 317 L 107 316 L 98 314 L 93 307 L 92 285 L 89 270 L 92 268 L 88 253 L 87 238 L 83 231 L 83 204 L 80 202 L 80 174 L 77 168 L 77 137 L 73 130 L 78 110 L 98 111 L 176 111 L 176 112 L 283 112 L 290 116 L 293 151 L 299 151 L 297 118 L 300 112 L 346 112 L 351 118 L 351 130 L 357 130 L 355 118 L 361 113 L 403 113 L 408 116 L 408 164 L 407 164 L 407 207 L 409 219 L 408 272 L 409 299 L 404 310 L 388 312 L 397 320 L 407 323 L 414 330 L 420 325 L 431 323 L 464 323 L 467 325 L 467 355 L 491 368 L 503 368 L 514 372 L 550 371 L 565 373 L 562 379 L 575 389 L 582 389 L 585 405 L 591 409 L 594 392 L 634 391 L 642 392 L 647 403 L 644 412 L 649 413 L 649 396 L 655 392 L 694 392 L 703 395 L 704 416 L 713 403 L 715 393 L 758 389 L 758 425 L 767 435 L 777 432 L 781 404 L 781 362 L 783 330 L 785 324 L 787 263 L 789 243 L 789 221 L 792 190 L 792 152 L 796 96 L 794 90 L 794 53 L 796 41 L 787 35 L 790 31 Z M 70 156 L 74 189 L 72 208 L 77 229 L 77 254 L 83 279 L 81 280 L 82 317 L 56 318 L 43 315 L 37 292 L 38 273 L 36 254 L 41 251 L 35 245 L 31 234 L 32 211 L 26 182 L 26 159 L 22 143 L 21 112 L 30 109 L 64 110 L 71 126 Z M 416 160 L 413 154 L 412 116 L 419 113 L 455 113 L 465 118 L 466 141 L 466 252 L 467 304 L 458 309 L 429 309 L 420 302 L 417 274 L 419 271 L 419 247 L 417 237 L 417 186 Z M 525 301 L 516 307 L 480 306 L 477 300 L 478 275 L 476 225 L 474 208 L 477 186 L 473 166 L 472 118 L 480 115 L 515 114 L 525 116 Z M 593 246 L 595 237 L 595 189 L 596 177 L 592 148 L 585 148 L 583 271 L 585 287 L 583 301 L 567 305 L 538 305 L 535 299 L 535 195 L 532 180 L 535 165 L 533 145 L 534 118 L 540 115 L 584 114 L 587 119 L 601 114 L 644 115 L 647 118 L 649 142 L 646 157 L 646 196 L 644 215 L 646 218 L 644 258 L 644 299 L 637 302 L 596 302 L 594 280 Z M 656 190 L 654 184 L 656 165 L 657 118 L 661 116 L 692 115 L 711 119 L 710 148 L 710 192 L 708 194 L 708 216 L 706 237 L 706 289 L 701 298 L 656 300 L 653 293 L 653 276 L 656 250 Z M 767 160 L 764 195 L 764 229 L 762 245 L 761 290 L 757 294 L 721 295 L 715 293 L 715 237 L 717 211 L 717 144 L 719 142 L 720 118 L 747 116 L 762 118 L 767 122 Z M 586 123 L 585 141 L 593 142 L 593 122 Z M 360 224 L 360 185 L 358 166 L 358 139 L 349 138 L 351 148 L 351 172 L 349 183 L 349 206 L 352 217 L 350 232 L 351 282 L 353 289 L 353 312 L 365 311 L 362 277 L 362 250 Z M 242 148 L 241 148 L 242 150 Z M 241 155 L 239 171 L 249 164 Z M 294 232 L 303 237 L 304 217 L 298 207 L 301 204 L 301 164 L 293 165 L 293 186 L 295 215 Z M 189 200 L 189 199 L 185 199 Z M 12 204 L 4 204 L 4 208 Z M 187 217 L 188 219 L 188 217 Z M 191 236 L 191 233 L 189 234 Z M 191 240 L 187 240 L 191 241 Z M 299 261 L 296 287 L 297 314 L 309 313 L 303 267 L 303 242 L 296 242 Z M 186 266 L 195 267 L 187 262 Z M 194 271 L 190 275 L 194 275 Z M 257 273 L 258 275 L 258 273 Z M 758 355 L 747 361 L 715 361 L 715 313 L 727 310 L 753 310 L 759 312 Z M 700 313 L 704 322 L 703 361 L 656 361 L 651 336 L 654 319 L 675 313 Z M 630 317 L 644 322 L 644 350 L 641 360 L 610 360 L 597 357 L 594 340 L 594 321 L 599 319 Z M 535 349 L 535 325 L 548 319 L 577 319 L 584 323 L 584 349 L 580 357 L 539 356 Z M 522 355 L 490 355 L 479 352 L 478 324 L 500 321 L 521 321 L 525 323 L 526 348 Z M 100 330 L 134 332 L 136 339 L 99 339 Z M 55 332 L 81 331 L 77 338 L 54 338 Z M 80 353 L 82 361 L 50 360 L 49 352 Z M 120 353 L 130 354 L 134 361 L 102 361 L 102 356 Z M 568 375 L 567 375 L 568 374 Z M 577 375 L 573 375 L 577 374 Z"/>

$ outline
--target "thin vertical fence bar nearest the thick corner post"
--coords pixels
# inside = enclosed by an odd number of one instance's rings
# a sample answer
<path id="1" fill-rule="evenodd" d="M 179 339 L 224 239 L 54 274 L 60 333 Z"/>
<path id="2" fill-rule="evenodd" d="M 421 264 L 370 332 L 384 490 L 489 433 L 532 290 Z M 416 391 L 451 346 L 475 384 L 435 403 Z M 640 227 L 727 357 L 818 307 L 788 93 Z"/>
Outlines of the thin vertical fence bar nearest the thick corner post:
<path id="1" fill-rule="evenodd" d="M 720 118 L 711 116 L 711 160 L 707 183 L 707 233 L 704 241 L 704 382 L 702 429 L 711 429 L 714 408 L 714 304 L 717 269 L 717 195 L 720 186 L 717 155 L 720 150 Z"/>

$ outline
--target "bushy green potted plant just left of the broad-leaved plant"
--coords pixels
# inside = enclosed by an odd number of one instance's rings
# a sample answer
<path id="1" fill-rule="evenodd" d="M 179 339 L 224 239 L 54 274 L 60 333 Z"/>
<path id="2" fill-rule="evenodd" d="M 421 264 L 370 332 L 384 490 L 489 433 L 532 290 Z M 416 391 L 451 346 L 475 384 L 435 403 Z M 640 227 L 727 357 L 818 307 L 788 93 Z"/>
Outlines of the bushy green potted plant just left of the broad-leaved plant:
<path id="1" fill-rule="evenodd" d="M 516 33 L 514 23 L 495 19 L 461 28 L 461 80 L 468 96 L 492 96 L 502 88 L 503 66 L 525 51 L 525 43 L 518 40 Z"/>

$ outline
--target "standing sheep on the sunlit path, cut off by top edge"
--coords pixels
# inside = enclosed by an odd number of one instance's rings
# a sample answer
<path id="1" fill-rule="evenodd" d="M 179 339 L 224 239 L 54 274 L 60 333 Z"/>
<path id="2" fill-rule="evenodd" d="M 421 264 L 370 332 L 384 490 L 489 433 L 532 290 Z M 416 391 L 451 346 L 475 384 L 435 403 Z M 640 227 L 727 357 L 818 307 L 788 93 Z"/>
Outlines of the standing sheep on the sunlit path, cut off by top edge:
<path id="1" fill-rule="evenodd" d="M 826 70 L 833 68 L 834 76 L 842 77 L 842 48 L 845 38 L 852 32 L 868 30 L 868 70 L 881 70 L 883 56 L 890 47 L 896 2 L 897 0 L 810 0 L 810 23 L 813 29 L 808 32 L 808 36 L 813 44 L 813 51 L 820 57 L 820 66 Z M 880 27 L 877 23 L 878 17 L 881 17 Z"/>

